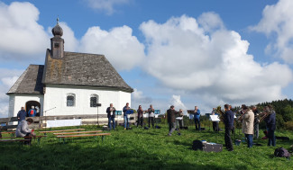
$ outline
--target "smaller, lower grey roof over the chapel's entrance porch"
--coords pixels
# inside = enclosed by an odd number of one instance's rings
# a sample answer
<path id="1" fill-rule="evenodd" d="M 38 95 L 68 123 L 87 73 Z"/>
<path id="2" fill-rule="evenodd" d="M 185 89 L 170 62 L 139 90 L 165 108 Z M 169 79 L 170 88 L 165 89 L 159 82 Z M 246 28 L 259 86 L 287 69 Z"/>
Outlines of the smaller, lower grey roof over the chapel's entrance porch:
<path id="1" fill-rule="evenodd" d="M 43 94 L 41 78 L 43 65 L 30 65 L 23 72 L 7 94 Z"/>

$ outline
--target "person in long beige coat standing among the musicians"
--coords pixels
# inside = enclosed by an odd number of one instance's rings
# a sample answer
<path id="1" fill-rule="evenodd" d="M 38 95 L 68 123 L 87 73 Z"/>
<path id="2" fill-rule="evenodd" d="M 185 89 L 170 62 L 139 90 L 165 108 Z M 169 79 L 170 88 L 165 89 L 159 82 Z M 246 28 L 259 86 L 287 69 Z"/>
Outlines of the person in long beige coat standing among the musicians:
<path id="1" fill-rule="evenodd" d="M 247 139 L 247 147 L 252 148 L 254 113 L 246 105 L 243 106 L 243 116 L 240 118 L 240 121 L 241 120 L 243 121 L 243 133 Z"/>

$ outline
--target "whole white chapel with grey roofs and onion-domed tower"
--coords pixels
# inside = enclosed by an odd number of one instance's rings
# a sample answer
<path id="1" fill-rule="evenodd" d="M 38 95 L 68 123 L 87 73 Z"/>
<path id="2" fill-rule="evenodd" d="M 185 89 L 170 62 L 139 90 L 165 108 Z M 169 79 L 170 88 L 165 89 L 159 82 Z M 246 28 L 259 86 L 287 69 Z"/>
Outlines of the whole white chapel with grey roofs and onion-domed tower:
<path id="1" fill-rule="evenodd" d="M 133 88 L 104 55 L 64 51 L 58 22 L 52 33 L 45 64 L 27 67 L 8 91 L 8 117 L 15 117 L 22 106 L 27 112 L 37 106 L 41 116 L 55 116 L 105 114 L 110 103 L 116 110 L 131 103 Z"/>

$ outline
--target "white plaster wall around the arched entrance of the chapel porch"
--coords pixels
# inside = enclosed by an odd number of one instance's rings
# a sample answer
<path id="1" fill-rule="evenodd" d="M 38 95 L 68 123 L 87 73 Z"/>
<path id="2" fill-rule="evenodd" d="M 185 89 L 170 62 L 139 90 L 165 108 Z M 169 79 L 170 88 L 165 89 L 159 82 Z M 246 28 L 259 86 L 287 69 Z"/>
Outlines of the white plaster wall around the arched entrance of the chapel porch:
<path id="1" fill-rule="evenodd" d="M 41 112 L 43 109 L 43 95 L 9 95 L 9 117 L 17 116 L 17 112 L 25 107 L 25 103 L 36 101 L 41 103 Z"/>

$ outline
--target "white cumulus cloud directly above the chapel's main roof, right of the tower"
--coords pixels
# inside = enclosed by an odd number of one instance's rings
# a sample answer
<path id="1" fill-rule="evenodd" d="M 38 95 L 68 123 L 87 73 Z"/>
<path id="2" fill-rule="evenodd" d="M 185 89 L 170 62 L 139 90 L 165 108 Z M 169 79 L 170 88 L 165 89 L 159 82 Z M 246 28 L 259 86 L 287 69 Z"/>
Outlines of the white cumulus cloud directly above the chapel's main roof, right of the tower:
<path id="1" fill-rule="evenodd" d="M 79 51 L 105 54 L 118 70 L 130 70 L 138 66 L 144 58 L 144 45 L 132 35 L 128 26 L 103 31 L 91 27 L 80 40 Z"/>

